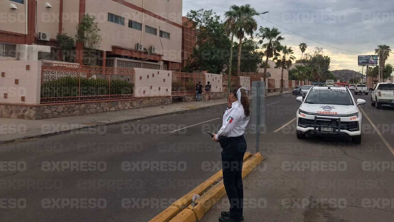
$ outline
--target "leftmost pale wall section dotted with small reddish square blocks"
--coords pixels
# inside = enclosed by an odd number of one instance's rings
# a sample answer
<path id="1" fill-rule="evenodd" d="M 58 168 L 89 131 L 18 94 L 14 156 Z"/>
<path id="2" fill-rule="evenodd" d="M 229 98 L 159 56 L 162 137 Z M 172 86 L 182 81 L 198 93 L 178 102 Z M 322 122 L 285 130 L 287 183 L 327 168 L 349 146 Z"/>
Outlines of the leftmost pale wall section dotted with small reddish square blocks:
<path id="1" fill-rule="evenodd" d="M 41 61 L 0 61 L 0 73 L 0 103 L 40 103 Z"/>

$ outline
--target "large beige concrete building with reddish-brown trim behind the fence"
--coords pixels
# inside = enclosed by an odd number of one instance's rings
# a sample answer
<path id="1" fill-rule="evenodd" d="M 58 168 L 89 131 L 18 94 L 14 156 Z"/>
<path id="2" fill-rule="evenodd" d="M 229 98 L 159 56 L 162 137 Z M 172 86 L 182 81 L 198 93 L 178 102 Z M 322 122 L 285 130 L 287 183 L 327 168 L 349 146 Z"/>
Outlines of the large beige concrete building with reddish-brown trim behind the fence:
<path id="1" fill-rule="evenodd" d="M 93 63 L 180 70 L 182 0 L 0 0 L 0 60 L 32 60 L 21 56 L 32 49 L 39 59 L 65 60 L 56 35 L 74 37 L 84 14 L 94 15 L 101 30 Z M 66 62 L 86 62 L 82 47 L 76 43 Z"/>

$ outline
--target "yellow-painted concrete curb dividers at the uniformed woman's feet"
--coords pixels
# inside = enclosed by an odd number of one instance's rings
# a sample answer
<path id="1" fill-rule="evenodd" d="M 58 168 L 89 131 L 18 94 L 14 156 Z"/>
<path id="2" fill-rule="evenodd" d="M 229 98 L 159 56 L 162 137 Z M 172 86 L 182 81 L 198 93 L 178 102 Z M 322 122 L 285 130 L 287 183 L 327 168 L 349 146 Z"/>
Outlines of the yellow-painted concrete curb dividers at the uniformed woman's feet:
<path id="1" fill-rule="evenodd" d="M 244 164 L 242 167 L 242 178 L 248 175 L 258 164 L 260 164 L 260 162 L 262 162 L 262 160 L 264 160 L 264 158 L 262 157 L 260 152 L 254 155 L 252 155 L 250 152 L 246 152 L 245 155 L 243 156 L 243 160 L 244 160 Z M 204 181 L 202 184 L 194 188 L 192 191 L 188 192 L 188 194 L 184 195 L 182 198 L 175 201 L 170 206 L 171 209 L 170 207 L 168 207 L 162 213 L 155 216 L 149 222 L 169 222 L 169 221 L 195 222 L 201 220 L 204 217 L 204 215 L 211 209 L 211 207 L 214 206 L 217 203 L 217 201 L 219 201 L 223 196 L 226 195 L 226 190 L 224 188 L 223 180 L 220 180 L 214 186 L 212 186 L 208 191 L 202 194 L 202 192 L 206 190 L 206 188 L 208 188 L 214 182 L 220 179 L 222 175 L 223 173 L 220 170 L 212 177 L 210 177 L 208 180 Z M 209 185 L 207 186 L 207 184 Z M 196 192 L 200 192 L 200 193 L 196 193 Z M 191 205 L 191 196 L 193 196 L 193 194 L 199 194 L 199 195 L 202 194 L 201 197 L 194 202 L 195 206 Z M 188 206 L 186 206 L 186 204 Z M 181 211 L 181 213 L 178 213 L 176 216 L 173 216 L 173 213 L 175 213 L 174 207 L 178 209 L 178 212 Z M 190 215 L 191 212 L 193 213 L 193 216 Z"/>

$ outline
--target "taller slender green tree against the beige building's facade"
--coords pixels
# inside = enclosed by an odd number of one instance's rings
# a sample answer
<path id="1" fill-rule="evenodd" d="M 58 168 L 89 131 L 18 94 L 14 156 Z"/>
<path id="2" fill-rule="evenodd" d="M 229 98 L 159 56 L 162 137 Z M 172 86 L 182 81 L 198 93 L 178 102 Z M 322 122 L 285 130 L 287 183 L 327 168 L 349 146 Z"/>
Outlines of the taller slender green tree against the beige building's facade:
<path id="1" fill-rule="evenodd" d="M 86 65 L 96 64 L 96 61 L 93 61 L 93 55 L 97 54 L 97 49 L 99 49 L 101 43 L 101 36 L 99 34 L 101 30 L 96 22 L 96 17 L 85 14 L 82 17 L 81 24 L 77 24 L 75 29 L 75 39 L 82 43 L 84 46 L 84 56 L 85 58 L 89 58 L 88 61 L 90 61 Z"/>

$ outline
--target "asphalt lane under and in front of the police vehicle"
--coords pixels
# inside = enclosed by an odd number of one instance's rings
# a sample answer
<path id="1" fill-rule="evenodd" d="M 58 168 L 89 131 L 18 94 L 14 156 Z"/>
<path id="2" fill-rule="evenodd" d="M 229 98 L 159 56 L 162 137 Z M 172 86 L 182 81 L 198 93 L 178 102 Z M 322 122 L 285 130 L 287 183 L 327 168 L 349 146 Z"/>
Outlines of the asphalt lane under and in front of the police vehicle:
<path id="1" fill-rule="evenodd" d="M 362 127 L 368 127 L 363 121 Z M 392 221 L 394 156 L 377 134 L 296 138 L 296 123 L 262 137 L 265 160 L 244 179 L 245 221 Z M 203 222 L 228 210 L 216 205 Z"/>

